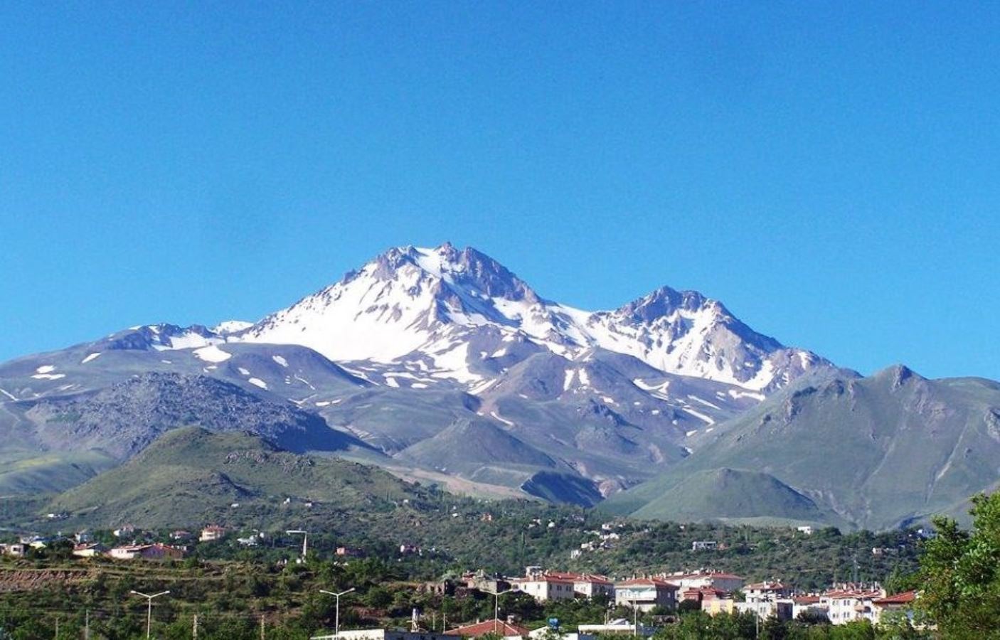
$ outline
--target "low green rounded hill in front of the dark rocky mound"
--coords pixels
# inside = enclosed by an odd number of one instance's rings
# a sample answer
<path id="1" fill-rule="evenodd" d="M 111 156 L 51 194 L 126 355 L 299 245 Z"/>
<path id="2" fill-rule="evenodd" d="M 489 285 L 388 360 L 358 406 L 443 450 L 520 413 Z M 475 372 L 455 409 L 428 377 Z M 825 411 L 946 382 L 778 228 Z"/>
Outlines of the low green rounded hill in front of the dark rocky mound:
<path id="1" fill-rule="evenodd" d="M 417 495 L 373 467 L 281 451 L 243 432 L 188 427 L 164 434 L 124 465 L 63 493 L 47 509 L 69 514 L 73 524 L 196 527 L 215 521 L 232 503 L 239 503 L 242 515 L 259 513 L 264 520 L 307 500 L 341 509 L 371 508 Z M 295 505 L 284 506 L 286 498 Z"/>

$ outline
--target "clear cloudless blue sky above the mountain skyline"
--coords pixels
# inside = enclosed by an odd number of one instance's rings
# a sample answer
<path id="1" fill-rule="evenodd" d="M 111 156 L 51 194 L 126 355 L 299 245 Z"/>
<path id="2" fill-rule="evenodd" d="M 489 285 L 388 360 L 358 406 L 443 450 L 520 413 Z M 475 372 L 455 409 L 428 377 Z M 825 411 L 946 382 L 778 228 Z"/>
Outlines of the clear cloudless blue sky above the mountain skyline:
<path id="1" fill-rule="evenodd" d="M 1000 378 L 998 7 L 2 3 L 0 359 L 451 240 Z"/>

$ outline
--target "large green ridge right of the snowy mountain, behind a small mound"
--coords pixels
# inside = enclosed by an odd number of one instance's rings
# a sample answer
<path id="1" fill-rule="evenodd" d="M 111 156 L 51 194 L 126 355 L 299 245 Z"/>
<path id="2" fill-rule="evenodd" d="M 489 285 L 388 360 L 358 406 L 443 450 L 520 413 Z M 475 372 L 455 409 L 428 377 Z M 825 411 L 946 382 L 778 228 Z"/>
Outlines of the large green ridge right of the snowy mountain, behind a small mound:
<path id="1" fill-rule="evenodd" d="M 868 378 L 816 377 L 719 431 L 607 508 L 674 518 L 673 494 L 686 478 L 731 468 L 770 474 L 853 526 L 883 529 L 960 511 L 1000 479 L 1000 384 L 987 380 L 928 380 L 902 366 Z M 697 515 L 716 517 L 716 508 Z"/>

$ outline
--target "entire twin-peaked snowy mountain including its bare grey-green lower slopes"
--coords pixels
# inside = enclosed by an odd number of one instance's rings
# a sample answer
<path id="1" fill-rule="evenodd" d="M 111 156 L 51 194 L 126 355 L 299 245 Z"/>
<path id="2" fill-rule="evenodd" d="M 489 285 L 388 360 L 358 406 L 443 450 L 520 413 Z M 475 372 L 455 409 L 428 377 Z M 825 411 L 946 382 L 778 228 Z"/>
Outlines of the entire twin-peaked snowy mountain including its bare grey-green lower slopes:
<path id="1" fill-rule="evenodd" d="M 270 403 L 261 415 L 292 405 L 394 471 L 592 504 L 833 369 L 694 291 L 583 311 L 475 249 L 399 247 L 256 323 L 143 325 L 0 363 L 0 454 L 65 488 L 174 422 L 241 429 L 243 410 L 226 407 L 257 398 Z"/>

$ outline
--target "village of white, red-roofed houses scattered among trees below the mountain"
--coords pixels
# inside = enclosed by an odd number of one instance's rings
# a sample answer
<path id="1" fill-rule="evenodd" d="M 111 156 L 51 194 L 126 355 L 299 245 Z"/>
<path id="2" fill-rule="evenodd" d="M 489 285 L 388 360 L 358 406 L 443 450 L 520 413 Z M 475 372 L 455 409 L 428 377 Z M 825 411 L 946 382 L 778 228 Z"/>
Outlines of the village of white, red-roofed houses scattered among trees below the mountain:
<path id="1" fill-rule="evenodd" d="M 614 540 L 612 536 L 618 535 L 611 531 L 612 528 L 611 525 L 605 525 L 601 534 L 602 543 Z M 304 531 L 287 533 L 302 534 L 301 555 L 294 558 L 293 563 L 307 563 L 310 558 L 308 534 Z M 802 533 L 808 535 L 811 531 Z M 198 545 L 227 542 L 235 547 L 252 548 L 267 539 L 267 534 L 261 531 L 241 537 L 238 532 L 215 524 L 206 525 L 197 533 L 171 531 L 167 542 L 153 540 L 150 534 L 130 525 L 113 530 L 111 535 L 119 540 L 118 544 L 107 545 L 95 541 L 94 536 L 87 531 L 78 532 L 72 537 L 26 535 L 21 536 L 18 542 L 0 545 L 0 554 L 17 558 L 28 556 L 32 552 L 63 547 L 78 561 L 106 558 L 119 562 L 163 562 L 182 560 Z M 704 550 L 714 549 L 717 545 L 714 541 L 695 541 L 692 547 L 693 550 Z M 872 550 L 876 555 L 883 551 Z M 402 544 L 398 553 L 405 557 L 420 555 L 423 550 L 417 545 Z M 364 555 L 363 550 L 347 546 L 338 546 L 334 552 L 336 561 L 343 564 Z M 578 556 L 575 553 L 571 555 Z M 289 559 L 281 562 L 288 563 Z M 546 629 L 530 630 L 523 626 L 516 615 L 504 614 L 499 597 L 504 594 L 523 594 L 541 605 L 560 601 L 603 603 L 609 612 L 606 619 L 577 625 L 578 628 L 572 632 L 575 640 L 592 640 L 604 635 L 650 636 L 658 626 L 675 622 L 679 611 L 693 610 L 702 611 L 709 616 L 749 615 L 760 622 L 809 620 L 814 623 L 846 625 L 866 621 L 878 625 L 890 617 L 894 620 L 900 617 L 913 620 L 913 604 L 918 597 L 913 590 L 889 593 L 878 583 L 862 582 L 835 583 L 826 589 L 806 591 L 795 589 L 780 580 L 748 582 L 744 577 L 733 573 L 705 568 L 605 576 L 538 565 L 526 567 L 524 575 L 520 576 L 506 576 L 482 569 L 470 570 L 458 576 L 427 582 L 416 588 L 457 599 L 495 599 L 493 619 L 456 623 L 453 627 L 442 628 L 442 633 L 437 635 L 499 635 L 511 640 L 537 638 Z M 612 610 L 631 612 L 633 617 L 631 620 L 627 617 L 612 618 Z M 640 615 L 643 621 L 640 621 Z M 442 620 L 442 627 L 445 624 Z M 435 631 L 435 627 L 436 624 L 432 622 L 428 628 L 428 621 L 414 609 L 411 621 L 414 633 L 426 636 L 428 632 Z M 561 629 L 561 632 L 565 635 L 567 630 Z M 370 630 L 349 633 L 351 635 L 341 634 L 342 638 L 370 638 L 364 635 L 370 633 Z M 416 640 L 416 637 L 397 640 Z"/>

